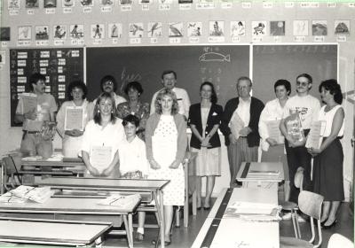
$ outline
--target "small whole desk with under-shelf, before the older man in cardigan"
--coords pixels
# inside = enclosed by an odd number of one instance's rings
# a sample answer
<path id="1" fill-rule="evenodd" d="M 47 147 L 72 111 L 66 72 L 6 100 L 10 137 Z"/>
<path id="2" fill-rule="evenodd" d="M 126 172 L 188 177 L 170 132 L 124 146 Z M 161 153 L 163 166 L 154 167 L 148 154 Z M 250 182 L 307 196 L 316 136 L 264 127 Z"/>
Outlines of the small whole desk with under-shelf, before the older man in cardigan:
<path id="1" fill-rule="evenodd" d="M 281 162 L 242 162 L 236 177 L 243 187 L 278 189 L 278 182 L 284 180 Z"/>

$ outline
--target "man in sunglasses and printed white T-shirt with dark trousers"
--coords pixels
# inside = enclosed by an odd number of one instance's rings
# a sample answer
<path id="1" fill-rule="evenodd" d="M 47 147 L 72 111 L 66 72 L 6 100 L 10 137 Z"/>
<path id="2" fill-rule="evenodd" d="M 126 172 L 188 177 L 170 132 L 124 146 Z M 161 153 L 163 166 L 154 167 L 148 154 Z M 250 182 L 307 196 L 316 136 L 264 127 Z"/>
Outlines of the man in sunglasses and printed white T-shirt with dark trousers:
<path id="1" fill-rule="evenodd" d="M 296 78 L 296 96 L 289 97 L 284 107 L 282 120 L 280 121 L 280 130 L 285 136 L 285 147 L 288 157 L 289 181 L 291 182 L 290 197 L 292 202 L 298 202 L 299 190 L 295 186 L 295 174 L 298 167 L 304 167 L 304 189 L 311 190 L 311 159 L 312 155 L 307 152 L 304 142 L 295 141 L 288 134 L 285 119 L 291 112 L 297 112 L 301 120 L 301 126 L 304 129 L 304 136 L 307 136 L 312 121 L 318 119 L 320 110 L 319 100 L 312 97 L 309 92 L 312 89 L 312 77 L 309 74 L 300 74 Z"/>

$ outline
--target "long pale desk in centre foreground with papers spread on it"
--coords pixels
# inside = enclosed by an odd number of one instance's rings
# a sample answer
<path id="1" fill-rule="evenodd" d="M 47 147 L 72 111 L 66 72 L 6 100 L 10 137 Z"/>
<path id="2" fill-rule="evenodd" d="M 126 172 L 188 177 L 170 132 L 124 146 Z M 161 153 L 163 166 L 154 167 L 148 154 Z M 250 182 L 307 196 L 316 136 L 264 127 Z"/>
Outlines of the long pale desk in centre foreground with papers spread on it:
<path id="1" fill-rule="evenodd" d="M 224 216 L 227 205 L 232 205 L 235 201 L 274 205 L 277 205 L 278 202 L 277 194 L 272 189 L 234 188 L 222 190 L 192 247 L 279 248 L 279 222 L 244 221 L 240 218 Z"/>

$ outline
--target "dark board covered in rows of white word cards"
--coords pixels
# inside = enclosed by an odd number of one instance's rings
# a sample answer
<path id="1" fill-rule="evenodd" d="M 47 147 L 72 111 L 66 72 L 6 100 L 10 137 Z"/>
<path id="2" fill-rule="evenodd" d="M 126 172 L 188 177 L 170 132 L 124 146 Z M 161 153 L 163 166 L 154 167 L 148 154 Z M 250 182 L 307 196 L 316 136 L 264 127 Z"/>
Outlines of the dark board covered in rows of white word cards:
<path id="1" fill-rule="evenodd" d="M 67 99 L 70 81 L 83 80 L 83 48 L 16 49 L 10 50 L 10 94 L 12 127 L 19 94 L 28 91 L 31 74 L 46 77 L 46 92 L 56 99 L 58 106 Z"/>

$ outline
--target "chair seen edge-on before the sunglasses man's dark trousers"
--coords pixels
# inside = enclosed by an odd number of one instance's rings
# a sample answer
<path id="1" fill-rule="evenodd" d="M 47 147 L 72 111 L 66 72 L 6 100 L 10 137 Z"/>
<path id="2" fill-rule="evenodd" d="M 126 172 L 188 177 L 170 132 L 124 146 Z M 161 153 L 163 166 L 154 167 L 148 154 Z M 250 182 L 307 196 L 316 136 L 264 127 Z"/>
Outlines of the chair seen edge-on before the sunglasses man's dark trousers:
<path id="1" fill-rule="evenodd" d="M 303 167 L 298 167 L 297 172 L 295 174 L 294 182 L 295 182 L 296 188 L 298 188 L 302 191 L 303 184 L 304 184 L 304 168 Z M 292 225 L 294 227 L 295 237 L 302 238 L 301 231 L 299 228 L 299 223 L 298 223 L 298 215 L 297 215 L 298 205 L 294 202 L 287 201 L 287 202 L 282 203 L 281 206 L 282 206 L 282 210 L 291 212 Z"/>

